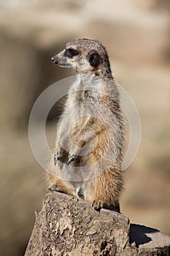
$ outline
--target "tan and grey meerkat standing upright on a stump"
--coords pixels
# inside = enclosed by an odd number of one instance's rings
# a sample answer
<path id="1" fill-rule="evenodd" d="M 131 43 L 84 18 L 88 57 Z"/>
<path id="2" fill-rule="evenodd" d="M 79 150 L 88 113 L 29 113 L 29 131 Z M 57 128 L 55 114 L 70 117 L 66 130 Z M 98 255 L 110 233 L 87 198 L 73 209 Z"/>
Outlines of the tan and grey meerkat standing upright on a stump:
<path id="1" fill-rule="evenodd" d="M 107 50 L 77 39 L 51 58 L 74 69 L 53 155 L 50 189 L 82 198 L 93 208 L 120 211 L 123 191 L 123 113 Z"/>

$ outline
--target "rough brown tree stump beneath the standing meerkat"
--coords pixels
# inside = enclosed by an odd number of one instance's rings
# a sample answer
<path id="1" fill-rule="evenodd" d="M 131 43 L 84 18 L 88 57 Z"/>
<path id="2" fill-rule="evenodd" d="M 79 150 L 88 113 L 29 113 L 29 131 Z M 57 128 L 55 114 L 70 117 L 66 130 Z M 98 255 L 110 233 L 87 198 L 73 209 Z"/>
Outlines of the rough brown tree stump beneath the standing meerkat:
<path id="1" fill-rule="evenodd" d="M 48 192 L 25 256 L 170 255 L 170 236 L 131 224 L 116 211 L 95 211 L 85 201 Z"/>

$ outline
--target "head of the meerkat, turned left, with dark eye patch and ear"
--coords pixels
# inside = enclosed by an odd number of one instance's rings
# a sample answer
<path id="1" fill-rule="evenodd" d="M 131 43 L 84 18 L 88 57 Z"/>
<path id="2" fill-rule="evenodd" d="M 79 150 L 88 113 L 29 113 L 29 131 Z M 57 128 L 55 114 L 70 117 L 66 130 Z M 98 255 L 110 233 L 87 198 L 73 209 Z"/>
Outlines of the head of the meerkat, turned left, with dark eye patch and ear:
<path id="1" fill-rule="evenodd" d="M 60 67 L 75 69 L 82 74 L 111 74 L 107 50 L 100 42 L 92 39 L 68 42 L 61 53 L 53 56 L 51 60 Z"/>

